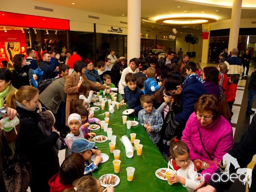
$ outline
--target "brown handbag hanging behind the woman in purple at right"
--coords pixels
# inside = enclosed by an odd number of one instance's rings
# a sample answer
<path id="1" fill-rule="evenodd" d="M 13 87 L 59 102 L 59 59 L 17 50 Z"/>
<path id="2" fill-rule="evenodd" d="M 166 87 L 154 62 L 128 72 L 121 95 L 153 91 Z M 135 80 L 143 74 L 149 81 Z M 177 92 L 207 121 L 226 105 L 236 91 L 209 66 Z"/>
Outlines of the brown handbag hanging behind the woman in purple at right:
<path id="1" fill-rule="evenodd" d="M 220 86 L 219 86 L 220 87 Z M 228 121 L 231 120 L 231 111 L 226 101 L 226 95 L 220 87 L 220 97 L 219 97 L 219 111 L 220 114 Z"/>

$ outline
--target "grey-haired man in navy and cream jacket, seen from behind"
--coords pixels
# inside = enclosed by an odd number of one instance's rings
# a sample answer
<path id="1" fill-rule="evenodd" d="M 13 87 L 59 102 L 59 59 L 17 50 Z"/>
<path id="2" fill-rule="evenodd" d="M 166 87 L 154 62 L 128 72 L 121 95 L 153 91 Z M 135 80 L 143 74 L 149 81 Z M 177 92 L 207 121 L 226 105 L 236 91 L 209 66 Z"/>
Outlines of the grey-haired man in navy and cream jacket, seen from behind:
<path id="1" fill-rule="evenodd" d="M 238 49 L 237 48 L 233 48 L 231 50 L 231 57 L 226 59 L 226 62 L 229 63 L 229 71 L 228 71 L 228 76 L 230 75 L 238 75 L 238 77 L 240 76 L 240 74 L 244 71 L 243 67 L 242 67 L 242 61 L 241 59 L 239 59 L 237 57 L 238 54 Z"/>

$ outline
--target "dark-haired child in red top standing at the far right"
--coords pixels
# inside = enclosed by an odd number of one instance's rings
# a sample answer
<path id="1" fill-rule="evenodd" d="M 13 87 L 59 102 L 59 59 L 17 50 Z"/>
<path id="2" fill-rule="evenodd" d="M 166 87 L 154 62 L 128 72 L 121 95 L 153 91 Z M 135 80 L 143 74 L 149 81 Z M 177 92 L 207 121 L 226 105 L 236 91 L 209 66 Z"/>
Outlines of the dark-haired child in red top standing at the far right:
<path id="1" fill-rule="evenodd" d="M 233 115 L 232 108 L 233 108 L 233 103 L 235 102 L 238 81 L 239 81 L 239 77 L 237 75 L 230 75 L 228 90 L 226 91 L 226 101 L 228 102 L 232 115 Z"/>

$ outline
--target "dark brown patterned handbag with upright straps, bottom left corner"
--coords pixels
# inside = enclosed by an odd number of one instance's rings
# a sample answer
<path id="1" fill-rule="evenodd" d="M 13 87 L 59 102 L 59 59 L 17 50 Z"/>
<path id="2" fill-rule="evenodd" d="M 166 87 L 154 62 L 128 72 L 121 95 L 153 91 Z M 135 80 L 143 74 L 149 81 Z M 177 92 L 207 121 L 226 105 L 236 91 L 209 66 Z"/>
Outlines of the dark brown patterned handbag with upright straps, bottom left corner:
<path id="1" fill-rule="evenodd" d="M 26 161 L 25 156 L 18 153 L 19 144 L 15 142 L 15 154 L 6 142 L 4 133 L 1 135 L 4 146 L 4 168 L 2 171 L 6 192 L 25 192 L 31 182 L 32 171 L 30 164 Z"/>

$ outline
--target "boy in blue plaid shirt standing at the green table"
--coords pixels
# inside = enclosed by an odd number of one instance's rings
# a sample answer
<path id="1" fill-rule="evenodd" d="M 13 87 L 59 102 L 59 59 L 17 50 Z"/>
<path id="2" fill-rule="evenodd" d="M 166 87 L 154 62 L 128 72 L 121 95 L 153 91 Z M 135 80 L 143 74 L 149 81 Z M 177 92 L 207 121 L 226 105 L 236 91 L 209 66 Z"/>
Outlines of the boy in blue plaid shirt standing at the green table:
<path id="1" fill-rule="evenodd" d="M 149 95 L 142 95 L 140 103 L 144 109 L 139 111 L 139 122 L 146 129 L 151 141 L 159 147 L 163 124 L 162 115 L 153 107 L 153 102 Z"/>

